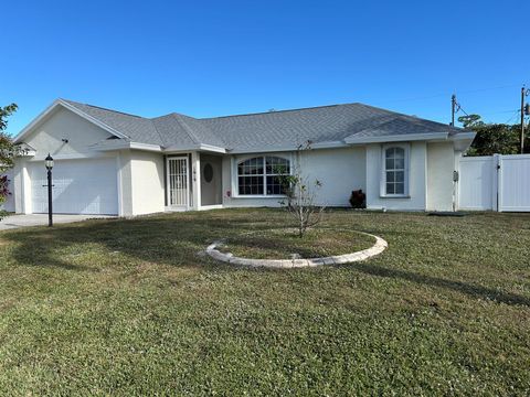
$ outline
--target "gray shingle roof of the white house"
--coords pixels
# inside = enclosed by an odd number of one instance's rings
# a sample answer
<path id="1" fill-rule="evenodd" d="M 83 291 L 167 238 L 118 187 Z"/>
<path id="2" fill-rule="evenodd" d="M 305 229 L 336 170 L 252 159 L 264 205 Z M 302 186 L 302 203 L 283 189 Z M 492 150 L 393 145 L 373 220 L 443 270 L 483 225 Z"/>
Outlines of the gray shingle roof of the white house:
<path id="1" fill-rule="evenodd" d="M 65 100 L 78 110 L 129 137 L 131 141 L 163 148 L 212 144 L 253 150 L 266 147 L 298 147 L 396 135 L 466 132 L 435 121 L 420 119 L 363 104 L 198 119 L 170 114 L 152 119 Z"/>

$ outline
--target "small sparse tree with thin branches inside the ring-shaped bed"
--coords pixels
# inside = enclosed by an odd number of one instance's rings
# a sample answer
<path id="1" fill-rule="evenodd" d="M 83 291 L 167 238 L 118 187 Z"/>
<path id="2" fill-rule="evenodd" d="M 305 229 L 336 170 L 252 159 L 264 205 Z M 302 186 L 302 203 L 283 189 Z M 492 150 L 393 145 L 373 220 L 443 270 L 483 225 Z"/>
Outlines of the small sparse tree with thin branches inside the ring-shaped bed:
<path id="1" fill-rule="evenodd" d="M 309 142 L 306 148 L 299 148 L 298 152 L 304 150 L 310 150 Z M 316 205 L 322 183 L 317 179 L 311 181 L 308 176 L 304 176 L 299 164 L 295 165 L 292 174 L 285 174 L 285 170 L 278 171 L 276 173 L 280 174 L 278 178 L 286 195 L 286 198 L 279 203 L 296 219 L 298 237 L 301 238 L 308 228 L 318 225 L 326 210 L 322 205 Z"/>

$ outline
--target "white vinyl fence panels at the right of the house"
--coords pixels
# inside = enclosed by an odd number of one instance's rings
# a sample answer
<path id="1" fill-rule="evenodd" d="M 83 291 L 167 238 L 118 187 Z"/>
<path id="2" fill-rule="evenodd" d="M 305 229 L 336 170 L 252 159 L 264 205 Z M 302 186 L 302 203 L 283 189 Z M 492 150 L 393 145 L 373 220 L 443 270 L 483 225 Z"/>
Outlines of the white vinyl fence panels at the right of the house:
<path id="1" fill-rule="evenodd" d="M 530 154 L 462 158 L 459 210 L 530 211 Z"/>

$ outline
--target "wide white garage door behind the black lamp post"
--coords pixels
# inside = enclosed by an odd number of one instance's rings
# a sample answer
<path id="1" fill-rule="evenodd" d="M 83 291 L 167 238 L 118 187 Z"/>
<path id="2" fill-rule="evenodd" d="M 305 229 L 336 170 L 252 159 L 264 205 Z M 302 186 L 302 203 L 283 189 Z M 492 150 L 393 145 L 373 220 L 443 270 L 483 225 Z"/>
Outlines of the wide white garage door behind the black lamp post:
<path id="1" fill-rule="evenodd" d="M 47 180 L 43 162 L 30 169 L 32 211 L 47 213 Z M 116 159 L 59 160 L 53 168 L 55 214 L 118 214 Z"/>

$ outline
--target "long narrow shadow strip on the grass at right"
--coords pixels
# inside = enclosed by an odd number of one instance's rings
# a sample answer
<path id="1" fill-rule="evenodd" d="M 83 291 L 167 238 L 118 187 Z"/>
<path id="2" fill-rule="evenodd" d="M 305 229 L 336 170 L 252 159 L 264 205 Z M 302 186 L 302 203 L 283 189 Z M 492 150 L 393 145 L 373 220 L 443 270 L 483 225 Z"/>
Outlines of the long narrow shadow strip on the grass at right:
<path id="1" fill-rule="evenodd" d="M 406 281 L 412 281 L 415 283 L 421 283 L 431 287 L 444 288 L 447 290 L 453 290 L 456 292 L 465 293 L 473 298 L 479 298 L 484 300 L 497 301 L 511 305 L 527 305 L 530 307 L 530 299 L 527 297 L 521 297 L 515 293 L 501 292 L 491 288 L 481 287 L 471 285 L 463 281 L 447 280 L 439 277 L 418 275 L 416 272 L 400 270 L 400 269 L 389 269 L 381 266 L 375 266 L 367 262 L 357 262 L 348 265 L 354 269 L 370 276 L 402 279 Z"/>

